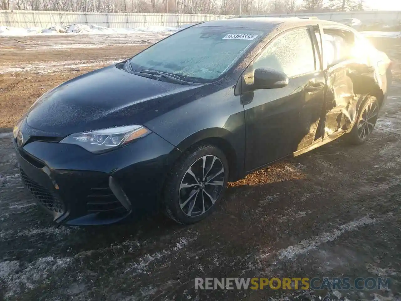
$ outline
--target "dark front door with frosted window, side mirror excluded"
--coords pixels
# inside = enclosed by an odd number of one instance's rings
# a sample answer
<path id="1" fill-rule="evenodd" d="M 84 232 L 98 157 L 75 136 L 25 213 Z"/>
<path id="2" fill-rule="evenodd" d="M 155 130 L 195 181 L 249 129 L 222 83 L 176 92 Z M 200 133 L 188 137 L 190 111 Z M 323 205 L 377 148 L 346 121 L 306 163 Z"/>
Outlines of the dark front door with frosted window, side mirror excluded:
<path id="1" fill-rule="evenodd" d="M 324 74 L 308 27 L 286 31 L 261 51 L 242 75 L 247 171 L 310 145 L 324 101 Z M 251 90 L 254 70 L 269 67 L 290 78 L 277 89 Z"/>

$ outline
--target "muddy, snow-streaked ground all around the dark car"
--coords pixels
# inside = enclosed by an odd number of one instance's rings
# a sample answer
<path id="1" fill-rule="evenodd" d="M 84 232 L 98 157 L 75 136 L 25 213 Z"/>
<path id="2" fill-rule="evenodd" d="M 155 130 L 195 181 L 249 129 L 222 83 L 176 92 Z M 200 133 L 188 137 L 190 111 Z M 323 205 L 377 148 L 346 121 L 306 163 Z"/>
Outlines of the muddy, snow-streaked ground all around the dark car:
<path id="1" fill-rule="evenodd" d="M 149 39 L 68 38 L 76 40 L 0 38 L 0 127 L 47 89 Z M 230 183 L 216 212 L 192 226 L 156 215 L 55 228 L 23 189 L 10 138 L 0 138 L 0 300 L 401 300 L 401 41 L 373 42 L 397 65 L 372 137 L 336 140 Z M 95 46 L 76 46 L 85 43 Z M 195 277 L 254 276 L 392 281 L 374 291 L 194 289 Z"/>

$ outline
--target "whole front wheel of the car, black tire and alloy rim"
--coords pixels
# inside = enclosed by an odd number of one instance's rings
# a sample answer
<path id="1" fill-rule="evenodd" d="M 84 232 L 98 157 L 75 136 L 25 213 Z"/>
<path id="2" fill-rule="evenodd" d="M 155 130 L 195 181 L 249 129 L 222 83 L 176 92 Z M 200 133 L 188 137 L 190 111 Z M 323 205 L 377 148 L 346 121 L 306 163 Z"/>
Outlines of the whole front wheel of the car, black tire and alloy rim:
<path id="1" fill-rule="evenodd" d="M 197 179 L 188 172 L 189 169 Z M 221 169 L 224 170 L 223 175 L 219 173 Z M 202 173 L 206 173 L 205 179 L 199 178 Z M 215 174 L 217 176 L 213 177 Z M 213 212 L 223 197 L 228 175 L 228 162 L 219 148 L 210 144 L 192 147 L 178 159 L 167 177 L 163 194 L 165 213 L 179 224 L 193 224 L 203 220 Z"/>

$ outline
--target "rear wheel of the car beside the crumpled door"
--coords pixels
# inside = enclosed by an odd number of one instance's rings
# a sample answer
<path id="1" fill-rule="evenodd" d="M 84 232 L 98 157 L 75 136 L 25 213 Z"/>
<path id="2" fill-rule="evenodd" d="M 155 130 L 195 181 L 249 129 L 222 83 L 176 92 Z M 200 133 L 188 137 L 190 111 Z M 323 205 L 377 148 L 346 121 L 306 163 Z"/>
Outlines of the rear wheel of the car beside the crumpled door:
<path id="1" fill-rule="evenodd" d="M 369 115 L 369 112 L 371 115 Z M 358 116 L 352 130 L 345 135 L 347 142 L 350 144 L 362 144 L 371 135 L 375 129 L 377 117 L 379 115 L 379 102 L 375 96 L 366 96 L 363 100 Z M 369 123 L 364 120 L 369 117 Z M 363 132 L 365 130 L 365 132 Z"/>

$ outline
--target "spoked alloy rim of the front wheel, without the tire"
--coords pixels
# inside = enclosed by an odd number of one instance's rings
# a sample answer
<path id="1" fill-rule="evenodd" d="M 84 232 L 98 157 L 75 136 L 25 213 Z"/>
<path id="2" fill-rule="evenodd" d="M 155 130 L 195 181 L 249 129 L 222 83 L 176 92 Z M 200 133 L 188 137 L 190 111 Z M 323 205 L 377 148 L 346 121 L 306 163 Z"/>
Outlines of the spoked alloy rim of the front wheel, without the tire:
<path id="1" fill-rule="evenodd" d="M 178 201 L 187 216 L 207 212 L 223 190 L 225 170 L 220 159 L 207 155 L 196 160 L 186 171 L 180 184 Z"/>

